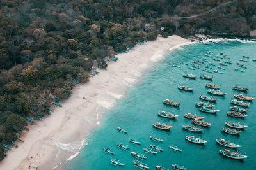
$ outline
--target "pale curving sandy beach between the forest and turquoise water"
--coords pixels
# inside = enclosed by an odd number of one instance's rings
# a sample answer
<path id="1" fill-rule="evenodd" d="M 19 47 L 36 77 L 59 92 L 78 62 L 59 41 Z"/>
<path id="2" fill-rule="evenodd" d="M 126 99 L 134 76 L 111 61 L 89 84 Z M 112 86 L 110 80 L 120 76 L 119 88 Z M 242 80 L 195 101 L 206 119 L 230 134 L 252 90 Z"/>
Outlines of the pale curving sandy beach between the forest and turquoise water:
<path id="1" fill-rule="evenodd" d="M 86 146 L 86 136 L 100 124 L 125 91 L 154 63 L 168 53 L 191 43 L 179 36 L 157 38 L 144 45 L 136 45 L 127 53 L 120 53 L 117 62 L 108 62 L 108 68 L 90 78 L 90 82 L 74 87 L 73 94 L 61 103 L 62 108 L 44 121 L 28 127 L 22 133 L 24 143 L 8 152 L 0 169 L 61 169 Z"/>

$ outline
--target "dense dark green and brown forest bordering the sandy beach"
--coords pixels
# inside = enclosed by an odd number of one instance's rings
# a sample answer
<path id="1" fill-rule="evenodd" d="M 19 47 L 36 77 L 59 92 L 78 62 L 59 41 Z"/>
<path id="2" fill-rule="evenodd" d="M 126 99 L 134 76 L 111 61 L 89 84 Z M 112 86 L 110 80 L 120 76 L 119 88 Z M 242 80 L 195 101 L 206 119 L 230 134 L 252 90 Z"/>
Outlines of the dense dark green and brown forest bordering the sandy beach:
<path id="1" fill-rule="evenodd" d="M 229 0 L 228 0 L 229 1 Z M 249 36 L 256 1 L 1 0 L 0 160 L 31 120 L 47 117 L 104 59 L 157 36 Z M 7 147 L 7 148 L 6 148 Z"/>

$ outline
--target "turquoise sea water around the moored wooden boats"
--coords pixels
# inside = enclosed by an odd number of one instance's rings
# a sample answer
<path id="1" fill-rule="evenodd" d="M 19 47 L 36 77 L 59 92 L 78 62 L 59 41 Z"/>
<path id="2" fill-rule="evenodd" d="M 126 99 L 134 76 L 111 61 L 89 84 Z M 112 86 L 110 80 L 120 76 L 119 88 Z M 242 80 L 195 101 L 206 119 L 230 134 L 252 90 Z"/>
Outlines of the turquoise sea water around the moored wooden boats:
<path id="1" fill-rule="evenodd" d="M 215 53 L 212 58 L 204 56 L 209 51 Z M 218 61 L 212 59 L 214 56 L 220 55 L 221 52 L 230 59 L 220 59 L 220 62 L 233 62 L 232 65 L 221 66 L 225 67 L 225 71 L 218 69 L 223 74 L 202 71 L 208 62 L 202 64 L 200 69 L 195 70 L 180 64 L 180 62 L 184 62 L 191 66 L 193 61 L 204 57 L 216 66 L 220 66 Z M 243 55 L 250 59 L 243 58 Z M 248 60 L 248 62 L 241 62 L 239 59 Z M 256 97 L 256 62 L 253 62 L 252 59 L 256 59 L 256 43 L 228 41 L 227 39 L 188 45 L 167 54 L 166 59 L 157 62 L 145 73 L 145 76 L 140 78 L 139 83 L 129 88 L 126 96 L 118 101 L 116 106 L 104 116 L 102 124 L 88 136 L 86 139 L 88 145 L 81 150 L 77 157 L 68 160 L 63 169 L 138 169 L 132 164 L 132 161 L 136 159 L 131 152 L 145 154 L 147 159 L 140 161 L 148 164 L 150 169 L 155 169 L 156 165 L 172 169 L 172 164 L 183 165 L 188 169 L 256 169 L 256 101 L 250 104 L 246 118 L 234 118 L 227 115 L 227 111 L 232 106 L 230 100 L 234 99 L 234 94 L 239 93 L 232 90 L 233 85 L 250 87 L 246 95 Z M 238 68 L 236 62 L 243 63 L 247 67 L 247 69 L 243 69 L 244 73 L 234 70 Z M 211 67 L 217 69 L 214 66 Z M 186 72 L 196 74 L 198 77 L 195 80 L 182 77 L 182 74 Z M 201 74 L 213 75 L 214 79 L 212 81 L 204 80 L 199 77 Z M 220 111 L 216 114 L 202 113 L 195 106 L 195 103 L 200 101 L 199 96 L 207 94 L 207 87 L 205 87 L 207 82 L 221 85 L 220 90 L 227 92 L 225 97 L 217 97 L 219 100 L 216 101 L 214 108 Z M 181 91 L 177 88 L 180 84 L 189 85 L 195 90 L 194 92 Z M 209 93 L 207 95 L 210 96 Z M 181 101 L 180 107 L 166 106 L 163 104 L 164 99 Z M 179 117 L 175 119 L 158 117 L 159 111 L 170 111 Z M 191 119 L 184 118 L 185 113 L 196 113 L 203 116 L 205 122 L 212 122 L 212 125 L 204 128 L 202 133 L 186 131 L 182 129 L 182 125 L 193 125 L 193 123 Z M 228 120 L 241 122 L 248 127 L 242 130 L 240 136 L 225 134 L 221 132 L 221 129 L 225 127 L 225 122 Z M 154 122 L 172 125 L 173 128 L 170 131 L 162 131 L 152 126 Z M 128 134 L 118 132 L 116 127 L 123 127 Z M 185 139 L 185 136 L 189 134 L 208 142 L 205 145 L 190 143 Z M 152 141 L 149 138 L 150 135 L 162 138 L 163 143 Z M 129 138 L 137 139 L 142 144 L 139 146 L 129 143 Z M 218 138 L 230 139 L 232 143 L 241 145 L 237 151 L 246 153 L 248 158 L 234 160 L 220 155 L 219 150 L 225 147 L 216 143 Z M 122 150 L 118 148 L 117 143 L 129 145 L 130 149 Z M 150 145 L 161 146 L 164 148 L 164 152 L 156 155 L 144 153 L 143 148 Z M 169 145 L 178 146 L 182 152 L 170 150 Z M 104 153 L 103 147 L 111 148 L 115 155 Z M 125 166 L 113 166 L 109 162 L 110 159 L 118 159 Z"/>

